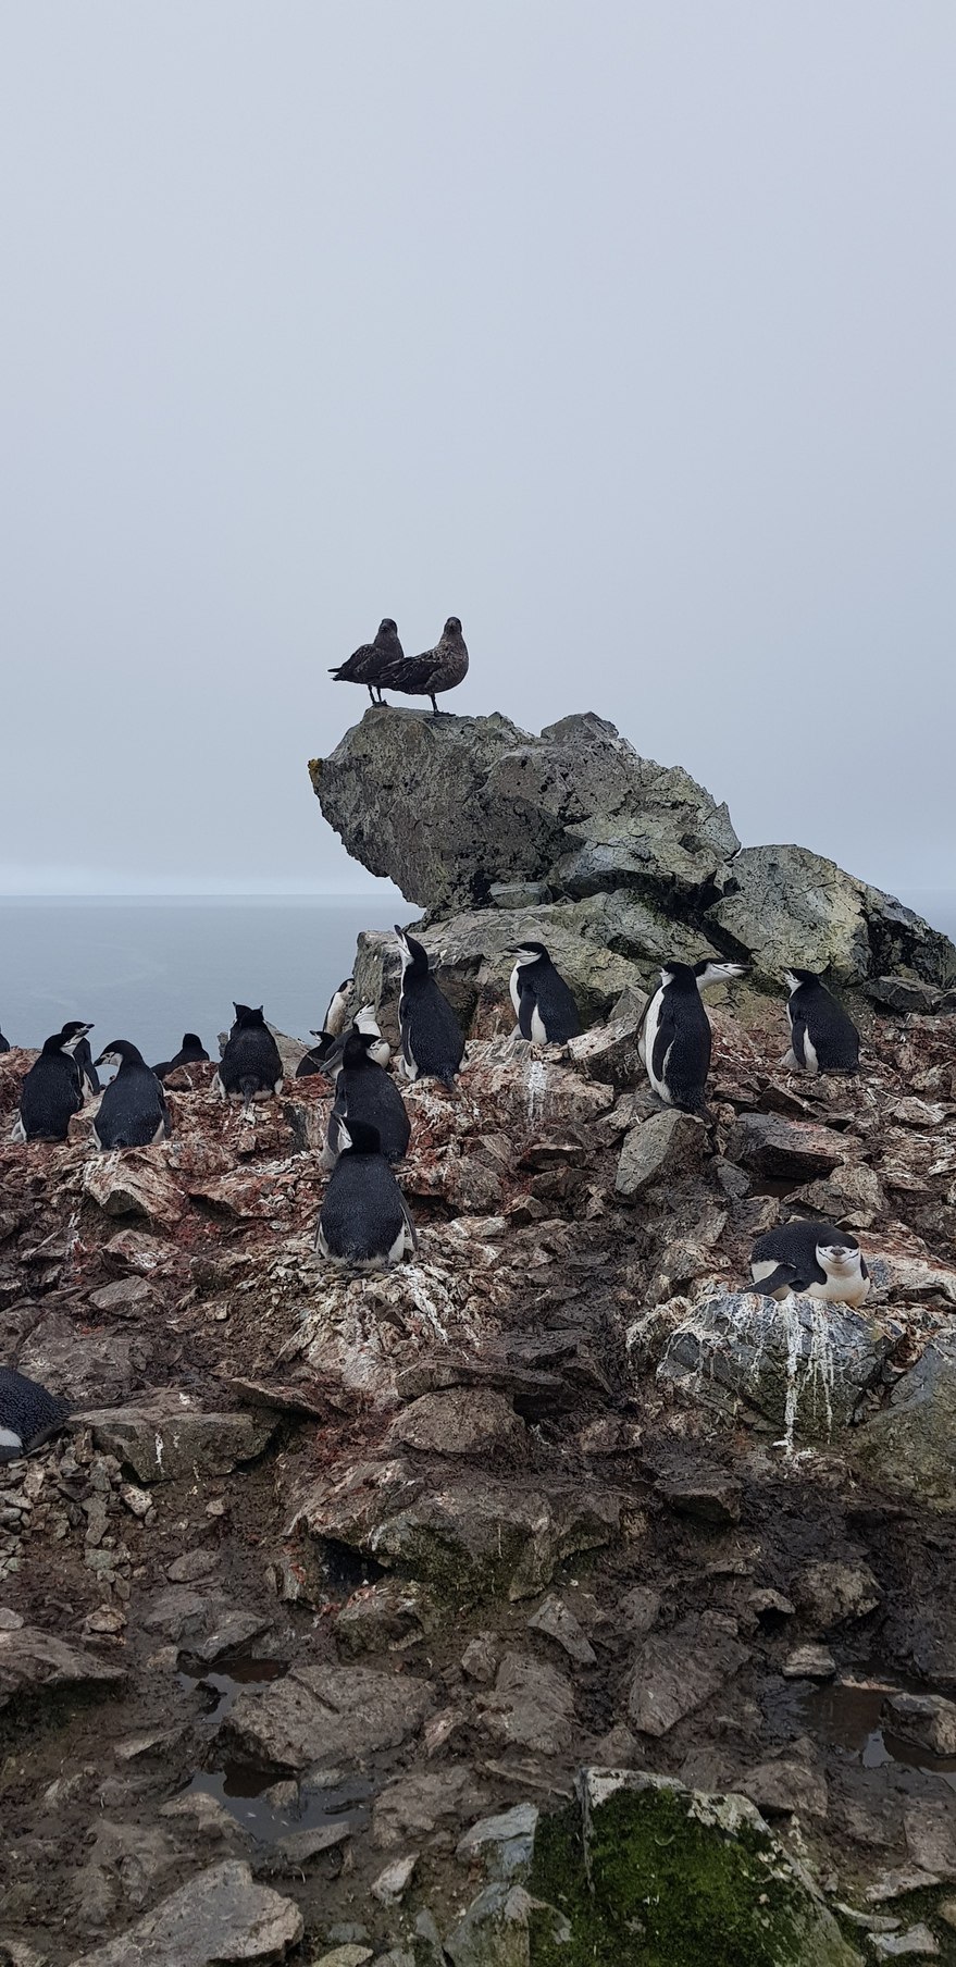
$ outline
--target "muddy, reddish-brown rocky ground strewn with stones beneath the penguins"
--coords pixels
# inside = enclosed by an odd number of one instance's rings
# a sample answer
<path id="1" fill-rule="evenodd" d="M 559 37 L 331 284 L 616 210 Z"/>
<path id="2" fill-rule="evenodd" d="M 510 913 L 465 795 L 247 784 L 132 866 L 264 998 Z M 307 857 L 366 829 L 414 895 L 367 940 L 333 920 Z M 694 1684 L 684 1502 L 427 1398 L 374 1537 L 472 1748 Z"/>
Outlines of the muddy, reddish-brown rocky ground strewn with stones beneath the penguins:
<path id="1" fill-rule="evenodd" d="M 812 1084 L 779 1001 L 718 1007 L 702 1125 L 637 1015 L 486 1015 L 407 1094 L 382 1279 L 313 1255 L 321 1080 L 0 1149 L 0 1355 L 75 1408 L 0 1471 L 0 1959 L 956 1959 L 952 1019 Z M 795 1206 L 866 1312 L 744 1290 Z M 620 1873 L 647 1823 L 679 1939 Z M 712 1847 L 767 1867 L 753 1930 Z"/>

